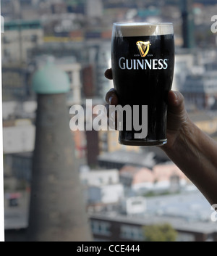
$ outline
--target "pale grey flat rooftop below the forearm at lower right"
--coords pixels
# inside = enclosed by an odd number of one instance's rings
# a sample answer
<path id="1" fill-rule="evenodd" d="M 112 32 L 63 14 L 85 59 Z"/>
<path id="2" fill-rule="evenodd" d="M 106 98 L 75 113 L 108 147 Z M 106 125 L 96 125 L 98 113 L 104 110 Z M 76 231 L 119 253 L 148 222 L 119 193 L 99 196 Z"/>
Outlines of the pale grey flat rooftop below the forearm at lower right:
<path id="1" fill-rule="evenodd" d="M 146 198 L 147 212 L 140 216 L 122 215 L 119 212 L 91 213 L 90 218 L 118 221 L 148 226 L 156 223 L 171 223 L 177 231 L 202 233 L 217 232 L 211 221 L 210 205 L 200 191 L 178 195 Z"/>

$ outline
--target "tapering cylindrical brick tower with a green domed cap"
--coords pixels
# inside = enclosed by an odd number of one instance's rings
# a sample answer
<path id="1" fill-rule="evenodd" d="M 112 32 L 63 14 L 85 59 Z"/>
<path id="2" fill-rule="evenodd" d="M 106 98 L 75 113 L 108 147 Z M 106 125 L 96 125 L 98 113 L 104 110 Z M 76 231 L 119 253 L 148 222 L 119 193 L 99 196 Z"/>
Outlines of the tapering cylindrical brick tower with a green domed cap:
<path id="1" fill-rule="evenodd" d="M 27 231 L 30 241 L 91 241 L 69 129 L 67 74 L 47 64 L 33 76 L 38 94 Z"/>

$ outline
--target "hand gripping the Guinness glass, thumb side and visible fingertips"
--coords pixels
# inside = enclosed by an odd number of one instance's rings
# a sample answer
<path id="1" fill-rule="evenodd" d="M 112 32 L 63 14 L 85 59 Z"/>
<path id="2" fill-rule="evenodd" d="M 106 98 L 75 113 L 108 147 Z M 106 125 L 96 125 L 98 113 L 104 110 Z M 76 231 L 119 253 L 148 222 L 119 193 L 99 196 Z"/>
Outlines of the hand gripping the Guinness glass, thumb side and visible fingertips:
<path id="1" fill-rule="evenodd" d="M 105 72 L 106 78 L 112 80 L 112 70 L 108 69 Z M 106 94 L 107 109 L 109 105 L 117 105 L 118 98 L 116 91 L 111 88 Z M 188 133 L 188 123 L 190 118 L 184 107 L 184 97 L 179 91 L 169 91 L 168 98 L 168 113 L 167 113 L 167 144 L 163 146 L 164 149 L 170 149 L 176 143 L 179 136 Z"/>

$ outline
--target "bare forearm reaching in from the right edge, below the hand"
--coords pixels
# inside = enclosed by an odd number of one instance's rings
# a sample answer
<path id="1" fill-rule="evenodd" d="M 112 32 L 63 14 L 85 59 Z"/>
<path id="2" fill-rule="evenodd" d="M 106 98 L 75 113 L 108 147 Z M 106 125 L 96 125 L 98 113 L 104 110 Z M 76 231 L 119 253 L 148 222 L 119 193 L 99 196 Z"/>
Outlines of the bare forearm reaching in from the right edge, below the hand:
<path id="1" fill-rule="evenodd" d="M 211 205 L 217 203 L 217 144 L 190 120 L 164 152 L 197 186 Z"/>

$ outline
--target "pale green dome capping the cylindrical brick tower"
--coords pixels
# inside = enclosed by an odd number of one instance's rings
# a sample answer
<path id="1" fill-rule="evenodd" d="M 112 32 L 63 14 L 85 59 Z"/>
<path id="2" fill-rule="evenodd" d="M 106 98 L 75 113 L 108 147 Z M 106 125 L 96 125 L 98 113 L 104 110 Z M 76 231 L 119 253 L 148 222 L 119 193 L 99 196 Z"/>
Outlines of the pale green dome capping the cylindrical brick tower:
<path id="1" fill-rule="evenodd" d="M 63 94 L 70 90 L 67 73 L 48 62 L 33 75 L 33 91 L 36 94 Z"/>

